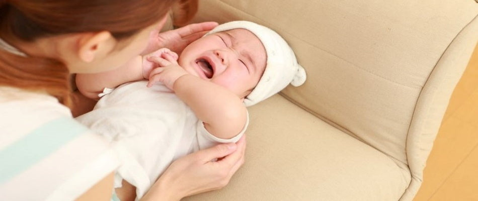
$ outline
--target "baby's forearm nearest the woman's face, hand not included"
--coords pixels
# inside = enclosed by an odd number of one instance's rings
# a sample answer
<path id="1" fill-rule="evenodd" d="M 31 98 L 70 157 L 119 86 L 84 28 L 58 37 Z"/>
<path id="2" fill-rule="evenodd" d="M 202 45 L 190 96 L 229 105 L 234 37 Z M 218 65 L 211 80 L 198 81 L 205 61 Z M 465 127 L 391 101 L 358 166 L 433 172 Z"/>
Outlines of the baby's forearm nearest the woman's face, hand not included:
<path id="1" fill-rule="evenodd" d="M 143 79 L 142 58 L 137 56 L 123 66 L 101 73 L 76 74 L 76 86 L 85 96 L 98 99 L 105 87 L 114 88 L 123 83 Z"/>

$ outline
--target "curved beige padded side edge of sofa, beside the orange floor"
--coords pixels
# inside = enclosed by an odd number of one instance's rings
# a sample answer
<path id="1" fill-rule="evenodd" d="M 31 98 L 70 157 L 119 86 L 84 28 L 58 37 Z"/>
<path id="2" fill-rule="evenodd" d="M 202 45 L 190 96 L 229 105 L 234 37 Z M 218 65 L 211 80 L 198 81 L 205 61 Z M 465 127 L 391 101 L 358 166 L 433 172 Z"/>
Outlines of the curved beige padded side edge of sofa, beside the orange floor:
<path id="1" fill-rule="evenodd" d="M 465 70 L 478 40 L 478 17 L 453 39 L 422 89 L 407 140 L 407 158 L 412 183 L 403 200 L 417 193 L 423 178 L 426 158 L 430 154 L 453 88 Z"/>

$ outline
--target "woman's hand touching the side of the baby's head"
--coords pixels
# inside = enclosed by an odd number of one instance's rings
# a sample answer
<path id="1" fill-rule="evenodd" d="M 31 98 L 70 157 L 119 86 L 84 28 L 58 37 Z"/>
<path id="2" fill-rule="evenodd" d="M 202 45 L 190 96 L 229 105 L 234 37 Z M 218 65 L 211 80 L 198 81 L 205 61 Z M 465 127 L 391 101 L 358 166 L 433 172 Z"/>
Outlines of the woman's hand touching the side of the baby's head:
<path id="1" fill-rule="evenodd" d="M 203 22 L 190 24 L 162 33 L 153 31 L 149 34 L 148 46 L 141 53 L 141 55 L 146 55 L 160 48 L 168 48 L 173 52 L 181 54 L 186 46 L 201 38 L 204 34 L 216 26 L 216 22 Z"/>

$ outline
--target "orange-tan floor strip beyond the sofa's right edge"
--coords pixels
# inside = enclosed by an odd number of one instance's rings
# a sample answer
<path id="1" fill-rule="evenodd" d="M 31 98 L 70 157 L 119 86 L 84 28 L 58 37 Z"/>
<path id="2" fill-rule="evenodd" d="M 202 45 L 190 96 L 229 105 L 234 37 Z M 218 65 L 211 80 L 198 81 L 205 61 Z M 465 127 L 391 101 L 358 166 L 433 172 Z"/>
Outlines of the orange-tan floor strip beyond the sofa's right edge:
<path id="1" fill-rule="evenodd" d="M 478 200 L 478 44 L 456 86 L 414 201 Z"/>

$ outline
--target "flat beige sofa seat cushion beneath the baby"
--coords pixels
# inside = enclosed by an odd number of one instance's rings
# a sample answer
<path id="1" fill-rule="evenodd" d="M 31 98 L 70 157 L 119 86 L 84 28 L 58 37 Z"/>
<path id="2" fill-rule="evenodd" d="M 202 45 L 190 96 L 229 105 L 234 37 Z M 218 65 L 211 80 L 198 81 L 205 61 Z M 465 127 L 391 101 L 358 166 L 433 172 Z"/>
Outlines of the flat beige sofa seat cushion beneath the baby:
<path id="1" fill-rule="evenodd" d="M 184 200 L 398 200 L 410 183 L 408 169 L 281 95 L 249 111 L 243 167 Z"/>

